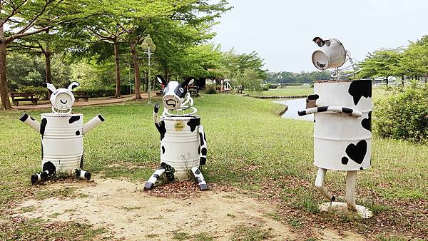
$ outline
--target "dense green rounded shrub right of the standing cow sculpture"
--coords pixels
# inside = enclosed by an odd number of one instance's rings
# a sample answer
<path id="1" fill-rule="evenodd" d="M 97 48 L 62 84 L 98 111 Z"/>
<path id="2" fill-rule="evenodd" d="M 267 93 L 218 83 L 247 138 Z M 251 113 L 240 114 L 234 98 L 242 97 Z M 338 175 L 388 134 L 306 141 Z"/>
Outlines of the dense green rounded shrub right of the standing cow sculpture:
<path id="1" fill-rule="evenodd" d="M 428 141 L 428 85 L 416 85 L 375 103 L 374 131 L 382 137 Z"/>

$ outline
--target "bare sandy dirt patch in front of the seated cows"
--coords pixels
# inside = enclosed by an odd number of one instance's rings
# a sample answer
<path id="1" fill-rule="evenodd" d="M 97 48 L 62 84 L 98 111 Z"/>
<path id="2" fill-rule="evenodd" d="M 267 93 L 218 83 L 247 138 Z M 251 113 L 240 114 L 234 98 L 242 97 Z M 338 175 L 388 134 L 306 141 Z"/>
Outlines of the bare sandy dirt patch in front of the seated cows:
<path id="1" fill-rule="evenodd" d="M 188 198 L 162 198 L 141 191 L 143 183 L 128 180 L 99 179 L 86 183 L 54 183 L 46 188 L 78 188 L 79 198 L 28 200 L 16 208 L 31 207 L 31 212 L 17 213 L 29 218 L 41 217 L 48 222 L 87 222 L 105 227 L 113 237 L 125 240 L 173 240 L 178 232 L 188 236 L 205 232 L 214 240 L 230 240 L 237 227 L 249 231 L 264 230 L 268 240 L 293 240 L 297 232 L 267 215 L 275 212 L 270 203 L 248 198 L 235 192 L 211 190 Z M 331 230 L 317 230 L 326 240 L 359 240 L 346 233 L 342 237 Z"/>

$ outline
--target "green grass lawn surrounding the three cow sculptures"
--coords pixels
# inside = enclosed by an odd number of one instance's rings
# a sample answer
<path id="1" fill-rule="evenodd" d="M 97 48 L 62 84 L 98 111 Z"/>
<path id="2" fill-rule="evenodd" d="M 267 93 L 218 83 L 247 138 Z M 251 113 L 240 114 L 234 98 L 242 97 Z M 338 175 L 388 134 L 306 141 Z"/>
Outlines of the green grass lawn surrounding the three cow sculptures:
<path id="1" fill-rule="evenodd" d="M 312 88 L 305 91 L 312 93 Z M 313 185 L 317 169 L 312 165 L 312 122 L 280 118 L 283 106 L 250 97 L 201 95 L 194 100 L 208 140 L 203 168 L 208 183 L 272 199 L 281 207 L 275 217 L 296 228 L 327 225 L 370 237 L 428 233 L 427 146 L 374 136 L 372 168 L 359 172 L 357 188 L 357 203 L 371 207 L 374 217 L 327 215 L 317 211 L 325 200 Z M 152 108 L 141 101 L 73 109 L 83 113 L 85 121 L 98 113 L 106 118 L 85 135 L 85 169 L 106 178 L 147 180 L 159 163 Z M 40 120 L 46 111 L 29 114 Z M 43 197 L 30 182 L 31 174 L 40 171 L 40 135 L 19 121 L 21 113 L 0 112 L 0 213 L 7 203 Z M 327 172 L 325 183 L 335 195 L 344 194 L 344 173 Z"/>

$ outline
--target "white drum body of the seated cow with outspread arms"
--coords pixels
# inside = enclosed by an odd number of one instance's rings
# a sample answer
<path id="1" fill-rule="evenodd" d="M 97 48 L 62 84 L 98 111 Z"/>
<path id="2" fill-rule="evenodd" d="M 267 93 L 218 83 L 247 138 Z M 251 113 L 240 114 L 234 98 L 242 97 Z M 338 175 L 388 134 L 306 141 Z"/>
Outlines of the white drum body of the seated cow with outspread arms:
<path id="1" fill-rule="evenodd" d="M 41 130 L 42 168 L 50 161 L 59 173 L 71 174 L 79 169 L 83 156 L 83 114 L 43 113 L 41 123 L 46 123 Z"/>

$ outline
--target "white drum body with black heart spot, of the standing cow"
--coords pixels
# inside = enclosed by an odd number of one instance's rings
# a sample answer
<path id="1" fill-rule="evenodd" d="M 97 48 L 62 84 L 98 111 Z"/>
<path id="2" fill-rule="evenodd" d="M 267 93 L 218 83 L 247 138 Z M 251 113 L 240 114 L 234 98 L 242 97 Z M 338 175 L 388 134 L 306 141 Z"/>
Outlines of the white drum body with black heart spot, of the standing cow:
<path id="1" fill-rule="evenodd" d="M 315 81 L 317 106 L 340 106 L 362 112 L 359 118 L 345 113 L 314 115 L 314 165 L 328 170 L 370 168 L 372 149 L 372 82 Z"/>

